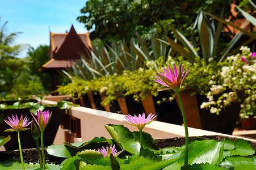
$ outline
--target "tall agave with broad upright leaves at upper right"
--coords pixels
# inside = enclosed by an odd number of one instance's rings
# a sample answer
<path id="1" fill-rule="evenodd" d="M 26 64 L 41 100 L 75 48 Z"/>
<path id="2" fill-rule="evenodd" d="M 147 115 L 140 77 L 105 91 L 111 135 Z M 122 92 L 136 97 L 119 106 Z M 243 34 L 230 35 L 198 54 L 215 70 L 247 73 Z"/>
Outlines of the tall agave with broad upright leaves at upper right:
<path id="1" fill-rule="evenodd" d="M 249 0 L 249 2 L 253 6 L 255 6 L 254 3 L 251 2 L 250 0 Z M 241 13 L 245 16 L 245 18 L 247 20 L 249 20 L 249 22 L 253 23 L 254 25 L 256 24 L 256 19 L 253 16 L 247 14 L 247 12 L 245 12 L 241 8 L 239 8 L 239 7 L 237 7 L 237 8 L 238 8 L 238 10 L 241 11 Z M 223 26 L 223 23 L 232 25 L 232 27 L 238 29 L 239 32 L 237 32 L 237 34 L 233 37 L 233 39 L 228 43 L 228 46 L 226 46 L 226 48 L 223 50 L 223 53 L 221 53 L 217 56 L 218 62 L 221 62 L 221 61 L 223 61 L 223 59 L 226 58 L 227 54 L 233 48 L 234 44 L 236 44 L 236 42 L 242 36 L 242 33 L 245 33 L 246 35 L 251 37 L 250 40 L 244 42 L 244 44 L 242 44 L 242 45 L 247 45 L 253 39 L 256 39 L 255 34 L 249 32 L 249 31 L 246 31 L 244 29 L 247 21 L 244 23 L 242 28 L 240 28 L 240 27 L 238 27 L 230 22 L 226 22 L 224 19 L 222 19 L 223 11 L 224 11 L 224 8 L 221 11 L 220 17 L 209 14 L 208 12 L 205 12 L 205 11 L 201 11 L 198 14 L 198 16 L 195 20 L 195 23 L 194 23 L 193 29 L 196 29 L 196 27 L 197 27 L 197 31 L 199 33 L 199 40 L 200 40 L 200 44 L 201 44 L 200 52 L 202 52 L 202 58 L 206 65 L 208 65 L 208 63 L 209 63 L 209 58 L 214 58 L 216 56 L 216 49 L 217 49 L 218 41 L 220 38 L 220 33 L 221 33 L 221 28 Z M 207 18 L 206 15 L 209 15 L 213 19 L 216 19 L 218 21 L 217 27 L 215 27 L 214 20 L 212 20 L 212 22 L 211 22 Z M 161 39 L 156 39 L 156 40 L 161 41 L 166 44 L 169 44 L 172 48 L 177 50 L 178 53 L 181 53 L 184 57 L 186 57 L 188 59 L 188 61 L 194 62 L 195 57 L 200 56 L 198 51 L 196 50 L 196 48 L 198 48 L 198 45 L 196 45 L 196 43 L 194 42 L 194 35 L 192 35 L 192 37 L 191 37 L 191 41 L 192 41 L 191 42 L 188 39 L 186 39 L 186 37 L 184 37 L 181 32 L 179 32 L 177 29 L 173 28 L 170 24 L 168 24 L 168 26 L 170 27 L 170 29 L 174 33 L 175 37 L 179 40 L 179 42 L 181 42 L 182 45 L 180 45 L 178 42 L 175 42 L 174 40 L 170 39 L 167 36 L 165 36 L 165 39 L 167 41 L 164 41 Z M 184 48 L 186 48 L 186 49 L 184 49 Z M 237 52 L 239 49 L 240 49 L 240 47 L 238 47 L 235 51 Z"/>

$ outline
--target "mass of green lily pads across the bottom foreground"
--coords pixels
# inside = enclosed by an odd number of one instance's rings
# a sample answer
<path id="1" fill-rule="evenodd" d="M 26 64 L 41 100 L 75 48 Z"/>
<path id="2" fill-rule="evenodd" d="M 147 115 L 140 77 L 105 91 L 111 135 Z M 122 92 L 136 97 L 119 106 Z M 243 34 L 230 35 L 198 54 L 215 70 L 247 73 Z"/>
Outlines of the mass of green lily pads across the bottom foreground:
<path id="1" fill-rule="evenodd" d="M 139 150 L 140 146 L 136 144 L 139 139 L 138 131 L 131 133 L 123 125 L 108 124 L 105 127 L 113 141 L 119 146 L 117 150 L 124 149 L 124 152 L 115 158 L 108 156 L 103 158 L 103 154 L 96 151 L 102 145 L 113 144 L 107 142 L 108 140 L 103 137 L 96 137 L 87 142 L 68 144 L 70 148 L 73 148 L 72 154 L 69 155 L 66 155 L 66 152 L 70 152 L 69 149 L 66 150 L 67 144 L 64 144 L 65 146 L 52 145 L 47 151 L 49 154 L 67 158 L 61 163 L 64 168 L 111 169 L 111 167 L 115 167 L 119 169 L 120 166 L 120 169 L 183 169 L 184 146 L 158 150 L 151 135 L 144 133 L 144 148 Z M 90 143 L 96 145 L 90 145 Z M 195 139 L 190 142 L 189 147 L 188 168 L 190 169 L 240 168 L 242 165 L 245 168 L 255 167 L 255 158 L 250 156 L 255 151 L 243 139 L 230 140 L 226 138 L 223 141 L 213 139 L 197 141 Z"/>

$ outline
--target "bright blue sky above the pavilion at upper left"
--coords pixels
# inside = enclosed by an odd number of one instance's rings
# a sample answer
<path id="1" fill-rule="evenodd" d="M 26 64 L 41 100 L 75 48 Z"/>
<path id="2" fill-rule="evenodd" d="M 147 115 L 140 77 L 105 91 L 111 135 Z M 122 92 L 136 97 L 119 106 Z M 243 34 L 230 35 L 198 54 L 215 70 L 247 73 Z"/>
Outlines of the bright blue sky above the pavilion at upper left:
<path id="1" fill-rule="evenodd" d="M 85 33 L 84 24 L 76 19 L 86 0 L 0 0 L 0 27 L 8 21 L 6 33 L 23 32 L 16 44 L 49 45 L 49 30 L 54 33 L 69 31 L 74 25 L 77 33 Z M 26 50 L 19 57 L 26 56 Z"/>

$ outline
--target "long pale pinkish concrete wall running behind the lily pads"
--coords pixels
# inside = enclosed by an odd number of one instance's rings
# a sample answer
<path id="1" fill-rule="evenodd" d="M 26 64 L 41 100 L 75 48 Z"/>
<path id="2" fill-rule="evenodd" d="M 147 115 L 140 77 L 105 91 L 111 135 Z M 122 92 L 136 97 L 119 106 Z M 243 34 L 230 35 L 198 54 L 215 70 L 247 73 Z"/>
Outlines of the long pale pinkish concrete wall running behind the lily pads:
<path id="1" fill-rule="evenodd" d="M 53 101 L 43 100 L 42 104 L 53 104 Z M 94 137 L 105 137 L 111 138 L 108 134 L 104 125 L 116 124 L 124 125 L 131 131 L 138 131 L 135 126 L 129 125 L 125 120 L 123 114 L 111 113 L 106 111 L 99 111 L 96 109 L 85 108 L 85 107 L 73 107 L 69 109 L 70 116 L 79 118 L 81 120 L 81 138 L 75 138 L 70 130 L 62 129 L 61 126 L 58 128 L 54 144 L 63 145 L 63 142 L 82 142 L 89 141 Z M 151 134 L 154 139 L 161 138 L 173 138 L 173 137 L 184 137 L 184 127 L 174 124 L 167 124 L 165 122 L 153 121 L 149 125 L 146 125 L 144 131 Z M 189 136 L 200 136 L 200 135 L 225 135 L 227 137 L 234 137 L 232 135 L 215 133 L 213 131 L 188 128 Z M 240 137 L 241 138 L 241 137 Z M 245 138 L 246 139 L 246 138 Z M 255 141 L 249 139 L 251 141 Z M 256 141 L 255 141 L 256 142 Z"/>

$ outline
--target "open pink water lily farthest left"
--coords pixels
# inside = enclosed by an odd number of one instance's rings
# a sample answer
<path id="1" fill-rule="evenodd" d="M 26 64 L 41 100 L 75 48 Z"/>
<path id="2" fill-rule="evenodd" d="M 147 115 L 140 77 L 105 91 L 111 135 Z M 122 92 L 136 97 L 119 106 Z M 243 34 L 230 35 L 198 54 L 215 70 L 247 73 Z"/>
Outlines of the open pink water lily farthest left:
<path id="1" fill-rule="evenodd" d="M 31 122 L 28 122 L 27 116 L 23 119 L 23 114 L 18 118 L 17 114 L 16 117 L 12 115 L 12 119 L 8 117 L 9 121 L 5 120 L 6 124 L 11 126 L 12 129 L 6 129 L 5 131 L 20 131 L 20 130 L 28 130 L 30 128 L 25 128 L 26 126 L 30 125 Z"/>

